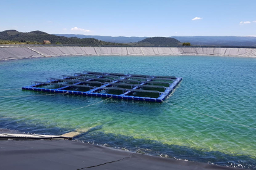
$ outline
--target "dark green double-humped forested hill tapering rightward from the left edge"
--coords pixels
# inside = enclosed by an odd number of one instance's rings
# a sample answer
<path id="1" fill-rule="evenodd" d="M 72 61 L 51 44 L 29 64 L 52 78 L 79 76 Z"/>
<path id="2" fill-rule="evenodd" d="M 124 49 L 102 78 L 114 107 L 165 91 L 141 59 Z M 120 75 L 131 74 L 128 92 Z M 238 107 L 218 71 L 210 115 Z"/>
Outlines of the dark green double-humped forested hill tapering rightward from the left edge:
<path id="1" fill-rule="evenodd" d="M 67 38 L 64 36 L 56 36 L 42 31 L 31 31 L 22 33 L 16 30 L 6 30 L 0 32 L 0 40 L 27 42 L 34 44 L 41 44 L 44 40 L 48 40 L 51 44 L 89 44 L 89 45 L 122 45 L 113 42 L 100 41 L 95 38 Z"/>

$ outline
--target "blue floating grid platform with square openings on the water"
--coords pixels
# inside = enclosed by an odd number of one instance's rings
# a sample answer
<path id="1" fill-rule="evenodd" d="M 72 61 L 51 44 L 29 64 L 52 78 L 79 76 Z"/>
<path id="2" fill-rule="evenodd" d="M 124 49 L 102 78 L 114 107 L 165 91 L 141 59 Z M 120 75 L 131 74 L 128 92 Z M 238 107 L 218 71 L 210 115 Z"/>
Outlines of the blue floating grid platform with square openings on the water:
<path id="1" fill-rule="evenodd" d="M 46 82 L 34 81 L 23 90 L 53 92 L 57 94 L 113 97 L 114 99 L 163 102 L 182 78 L 175 76 L 133 75 L 82 71 Z"/>

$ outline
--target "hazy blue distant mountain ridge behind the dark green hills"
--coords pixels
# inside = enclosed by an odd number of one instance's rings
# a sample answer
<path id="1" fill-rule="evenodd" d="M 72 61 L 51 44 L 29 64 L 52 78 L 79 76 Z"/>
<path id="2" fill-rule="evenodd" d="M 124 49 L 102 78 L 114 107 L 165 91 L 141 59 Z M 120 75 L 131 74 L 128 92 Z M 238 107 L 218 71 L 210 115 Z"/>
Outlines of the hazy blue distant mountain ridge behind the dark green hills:
<path id="1" fill-rule="evenodd" d="M 82 34 L 56 34 L 67 37 L 95 38 L 101 41 L 129 43 L 139 42 L 149 37 L 125 37 L 125 36 L 89 36 Z M 256 37 L 251 36 L 171 36 L 181 42 L 190 42 L 196 46 L 256 46 Z"/>

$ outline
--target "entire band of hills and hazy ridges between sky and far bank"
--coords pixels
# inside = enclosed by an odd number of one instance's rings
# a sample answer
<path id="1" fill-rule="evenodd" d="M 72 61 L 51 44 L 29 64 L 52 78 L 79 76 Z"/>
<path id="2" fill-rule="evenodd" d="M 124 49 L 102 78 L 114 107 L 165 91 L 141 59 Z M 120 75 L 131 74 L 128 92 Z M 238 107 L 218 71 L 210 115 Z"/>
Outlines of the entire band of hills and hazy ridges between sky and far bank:
<path id="1" fill-rule="evenodd" d="M 85 36 L 77 34 L 48 34 L 43 31 L 22 33 L 16 30 L 0 31 L 0 44 L 10 43 L 41 44 L 44 40 L 52 44 L 86 44 L 93 46 L 176 46 L 180 42 L 190 42 L 192 46 L 248 46 L 256 47 L 256 37 L 247 36 L 171 36 L 177 41 L 155 37 L 147 42 L 148 37 L 111 37 L 111 36 Z M 70 38 L 68 38 L 69 36 Z M 77 38 L 77 36 L 79 38 Z M 7 42 L 9 43 L 9 42 Z"/>

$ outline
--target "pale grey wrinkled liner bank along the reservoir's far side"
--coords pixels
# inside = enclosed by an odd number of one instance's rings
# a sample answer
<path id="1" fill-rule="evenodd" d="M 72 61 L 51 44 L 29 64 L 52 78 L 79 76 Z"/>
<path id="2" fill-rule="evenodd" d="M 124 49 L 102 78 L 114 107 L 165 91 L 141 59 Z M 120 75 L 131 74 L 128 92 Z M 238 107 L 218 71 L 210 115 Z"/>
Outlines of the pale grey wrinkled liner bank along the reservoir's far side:
<path id="1" fill-rule="evenodd" d="M 65 55 L 220 55 L 256 57 L 256 49 L 216 47 L 0 47 L 0 60 Z"/>

